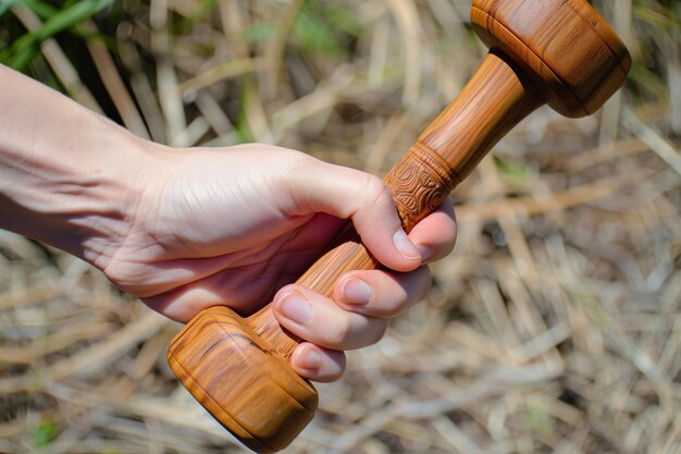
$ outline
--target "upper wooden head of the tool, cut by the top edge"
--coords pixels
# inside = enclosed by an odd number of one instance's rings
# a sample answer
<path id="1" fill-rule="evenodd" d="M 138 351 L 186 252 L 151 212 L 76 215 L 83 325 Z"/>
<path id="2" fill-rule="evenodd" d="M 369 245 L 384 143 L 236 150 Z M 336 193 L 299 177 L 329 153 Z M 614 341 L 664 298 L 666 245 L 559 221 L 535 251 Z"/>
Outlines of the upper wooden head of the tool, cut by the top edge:
<path id="1" fill-rule="evenodd" d="M 622 41 L 585 1 L 473 0 L 471 23 L 566 116 L 600 109 L 631 68 Z"/>

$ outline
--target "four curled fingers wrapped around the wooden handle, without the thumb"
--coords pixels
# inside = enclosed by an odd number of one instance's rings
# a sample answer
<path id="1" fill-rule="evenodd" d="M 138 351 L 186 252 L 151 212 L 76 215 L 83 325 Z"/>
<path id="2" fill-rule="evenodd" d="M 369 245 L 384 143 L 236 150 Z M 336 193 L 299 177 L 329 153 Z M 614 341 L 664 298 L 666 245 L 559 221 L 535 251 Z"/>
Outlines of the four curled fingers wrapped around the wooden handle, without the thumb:
<path id="1" fill-rule="evenodd" d="M 454 209 L 446 204 L 409 236 L 423 261 L 430 262 L 451 251 L 456 234 Z M 410 272 L 350 271 L 334 286 L 333 299 L 298 285 L 283 289 L 274 298 L 273 312 L 283 327 L 308 341 L 294 352 L 292 366 L 310 380 L 337 380 L 345 369 L 340 351 L 377 342 L 387 320 L 420 302 L 430 285 L 430 270 L 422 266 Z"/>

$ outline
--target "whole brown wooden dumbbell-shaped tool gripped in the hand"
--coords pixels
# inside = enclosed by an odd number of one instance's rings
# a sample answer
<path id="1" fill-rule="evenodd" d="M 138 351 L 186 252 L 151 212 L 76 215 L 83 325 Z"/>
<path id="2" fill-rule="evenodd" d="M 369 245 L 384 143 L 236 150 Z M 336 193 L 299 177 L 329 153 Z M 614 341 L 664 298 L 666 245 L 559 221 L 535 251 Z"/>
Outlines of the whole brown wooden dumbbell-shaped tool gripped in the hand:
<path id="1" fill-rule="evenodd" d="M 473 0 L 471 22 L 490 53 L 385 177 L 407 232 L 530 112 L 547 103 L 570 118 L 594 113 L 631 66 L 622 41 L 585 0 Z M 377 266 L 350 224 L 297 283 L 331 296 L 346 271 Z M 212 307 L 173 339 L 168 361 L 237 439 L 272 453 L 317 409 L 317 391 L 288 364 L 299 342 L 271 305 L 248 318 Z"/>

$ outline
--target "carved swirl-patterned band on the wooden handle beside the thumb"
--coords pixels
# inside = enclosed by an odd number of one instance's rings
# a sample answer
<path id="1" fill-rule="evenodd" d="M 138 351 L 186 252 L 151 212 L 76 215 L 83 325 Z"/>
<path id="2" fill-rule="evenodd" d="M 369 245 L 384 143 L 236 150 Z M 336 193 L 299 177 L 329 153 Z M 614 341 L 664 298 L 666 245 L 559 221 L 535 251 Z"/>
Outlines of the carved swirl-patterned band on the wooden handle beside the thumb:
<path id="1" fill-rule="evenodd" d="M 436 209 L 461 179 L 435 150 L 417 142 L 385 182 L 408 232 Z"/>

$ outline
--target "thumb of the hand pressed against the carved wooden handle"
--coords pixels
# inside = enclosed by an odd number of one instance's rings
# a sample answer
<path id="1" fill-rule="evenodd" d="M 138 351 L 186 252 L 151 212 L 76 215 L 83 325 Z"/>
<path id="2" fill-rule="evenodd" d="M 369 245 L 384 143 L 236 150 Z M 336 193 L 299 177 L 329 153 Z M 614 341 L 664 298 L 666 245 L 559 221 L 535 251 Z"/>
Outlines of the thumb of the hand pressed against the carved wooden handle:
<path id="1" fill-rule="evenodd" d="M 421 265 L 421 253 L 403 230 L 391 192 L 381 179 L 305 156 L 285 184 L 290 204 L 285 212 L 325 212 L 351 219 L 364 246 L 387 268 L 404 272 Z"/>

